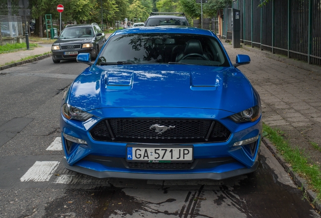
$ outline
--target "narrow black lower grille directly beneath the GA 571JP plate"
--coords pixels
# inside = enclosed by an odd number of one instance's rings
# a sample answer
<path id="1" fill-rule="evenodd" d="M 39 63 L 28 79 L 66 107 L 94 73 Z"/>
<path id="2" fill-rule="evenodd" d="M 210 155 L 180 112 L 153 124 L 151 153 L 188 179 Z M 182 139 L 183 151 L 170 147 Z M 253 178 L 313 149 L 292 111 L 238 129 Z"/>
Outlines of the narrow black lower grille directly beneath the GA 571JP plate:
<path id="1" fill-rule="evenodd" d="M 193 166 L 192 162 L 172 162 L 172 163 L 149 163 L 149 162 L 127 162 L 127 167 L 131 169 L 145 170 L 188 170 Z"/>

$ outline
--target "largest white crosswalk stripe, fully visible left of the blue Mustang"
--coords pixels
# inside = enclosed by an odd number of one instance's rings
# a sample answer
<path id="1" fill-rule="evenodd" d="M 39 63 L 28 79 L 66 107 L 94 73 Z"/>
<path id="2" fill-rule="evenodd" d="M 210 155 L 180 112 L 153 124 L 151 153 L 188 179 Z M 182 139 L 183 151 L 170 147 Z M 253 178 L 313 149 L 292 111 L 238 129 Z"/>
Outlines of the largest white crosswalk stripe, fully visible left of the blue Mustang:
<path id="1" fill-rule="evenodd" d="M 36 161 L 27 173 L 20 178 L 21 182 L 45 182 L 58 168 L 60 161 Z"/>

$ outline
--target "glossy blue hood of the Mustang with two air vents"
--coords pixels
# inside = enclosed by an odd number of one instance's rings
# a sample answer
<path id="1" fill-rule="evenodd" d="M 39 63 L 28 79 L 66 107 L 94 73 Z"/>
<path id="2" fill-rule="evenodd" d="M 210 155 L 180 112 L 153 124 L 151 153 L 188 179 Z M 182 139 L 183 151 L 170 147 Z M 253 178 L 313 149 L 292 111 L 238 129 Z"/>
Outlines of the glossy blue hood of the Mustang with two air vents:
<path id="1" fill-rule="evenodd" d="M 93 65 L 75 79 L 66 102 L 83 111 L 148 106 L 238 113 L 253 106 L 253 90 L 234 67 Z"/>

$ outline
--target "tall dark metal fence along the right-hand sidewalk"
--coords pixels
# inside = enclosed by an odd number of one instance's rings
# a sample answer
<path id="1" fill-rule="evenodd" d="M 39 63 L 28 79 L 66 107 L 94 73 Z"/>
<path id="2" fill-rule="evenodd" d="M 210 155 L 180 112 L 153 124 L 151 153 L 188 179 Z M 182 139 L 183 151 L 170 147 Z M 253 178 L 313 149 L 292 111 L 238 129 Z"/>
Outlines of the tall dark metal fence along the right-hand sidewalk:
<path id="1" fill-rule="evenodd" d="M 321 65 L 321 1 L 235 0 L 241 42 L 262 50 Z M 224 9 L 223 38 L 232 39 L 232 6 Z"/>

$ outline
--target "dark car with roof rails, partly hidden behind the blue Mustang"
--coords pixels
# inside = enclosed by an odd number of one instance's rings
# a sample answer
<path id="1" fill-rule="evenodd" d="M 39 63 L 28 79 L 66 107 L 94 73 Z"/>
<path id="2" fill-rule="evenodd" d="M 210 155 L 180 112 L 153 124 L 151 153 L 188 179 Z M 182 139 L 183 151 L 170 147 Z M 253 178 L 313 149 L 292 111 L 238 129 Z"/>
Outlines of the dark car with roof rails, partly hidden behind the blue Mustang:
<path id="1" fill-rule="evenodd" d="M 189 26 L 184 13 L 152 12 L 150 13 L 145 27 L 151 26 Z"/>

